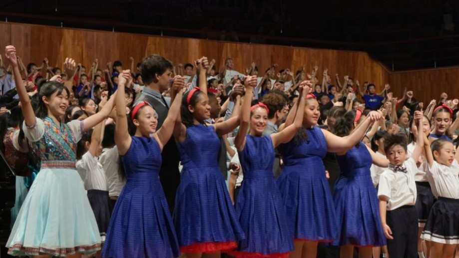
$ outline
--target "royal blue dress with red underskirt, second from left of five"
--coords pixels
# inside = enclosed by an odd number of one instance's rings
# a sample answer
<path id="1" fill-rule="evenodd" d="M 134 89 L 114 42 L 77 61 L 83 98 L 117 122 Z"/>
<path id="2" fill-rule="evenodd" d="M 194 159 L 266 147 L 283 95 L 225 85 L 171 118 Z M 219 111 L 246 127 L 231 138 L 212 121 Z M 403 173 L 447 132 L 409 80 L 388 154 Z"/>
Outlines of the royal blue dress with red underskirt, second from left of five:
<path id="1" fill-rule="evenodd" d="M 220 141 L 214 127 L 188 127 L 185 141 L 177 147 L 183 169 L 173 217 L 180 250 L 211 253 L 235 248 L 245 237 L 218 167 Z"/>

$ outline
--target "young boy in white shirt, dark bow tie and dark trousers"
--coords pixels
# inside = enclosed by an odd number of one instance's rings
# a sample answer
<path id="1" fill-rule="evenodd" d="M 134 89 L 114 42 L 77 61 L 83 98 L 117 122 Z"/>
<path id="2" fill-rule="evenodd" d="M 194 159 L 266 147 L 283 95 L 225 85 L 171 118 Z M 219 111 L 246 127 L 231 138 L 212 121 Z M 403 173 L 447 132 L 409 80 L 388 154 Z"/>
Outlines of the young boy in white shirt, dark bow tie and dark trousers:
<path id="1" fill-rule="evenodd" d="M 416 111 L 415 122 L 423 122 Z M 422 124 L 420 125 L 422 128 Z M 383 232 L 386 235 L 389 257 L 418 257 L 418 212 L 415 208 L 417 190 L 416 161 L 423 151 L 423 130 L 418 130 L 417 146 L 408 158 L 406 135 L 395 134 L 384 141 L 386 157 L 390 162 L 379 179 L 378 198 Z"/>

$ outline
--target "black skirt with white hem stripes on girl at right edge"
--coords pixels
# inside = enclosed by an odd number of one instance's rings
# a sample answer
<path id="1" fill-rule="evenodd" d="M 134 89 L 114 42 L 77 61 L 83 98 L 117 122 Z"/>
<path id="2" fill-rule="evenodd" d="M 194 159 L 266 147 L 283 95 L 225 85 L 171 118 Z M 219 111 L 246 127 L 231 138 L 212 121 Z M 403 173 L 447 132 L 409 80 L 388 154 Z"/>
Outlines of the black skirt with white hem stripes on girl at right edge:
<path id="1" fill-rule="evenodd" d="M 459 199 L 439 197 L 421 238 L 442 244 L 459 244 Z"/>

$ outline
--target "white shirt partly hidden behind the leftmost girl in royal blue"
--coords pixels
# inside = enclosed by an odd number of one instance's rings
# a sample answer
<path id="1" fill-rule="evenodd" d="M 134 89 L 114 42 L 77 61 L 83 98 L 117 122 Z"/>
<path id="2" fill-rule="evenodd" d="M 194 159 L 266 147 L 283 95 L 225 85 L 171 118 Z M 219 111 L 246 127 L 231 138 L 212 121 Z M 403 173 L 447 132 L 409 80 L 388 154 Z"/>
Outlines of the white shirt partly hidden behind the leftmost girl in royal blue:
<path id="1" fill-rule="evenodd" d="M 108 195 L 119 196 L 125 182 L 119 178 L 119 154 L 118 147 L 105 148 L 99 158 L 102 164 L 108 184 Z"/>

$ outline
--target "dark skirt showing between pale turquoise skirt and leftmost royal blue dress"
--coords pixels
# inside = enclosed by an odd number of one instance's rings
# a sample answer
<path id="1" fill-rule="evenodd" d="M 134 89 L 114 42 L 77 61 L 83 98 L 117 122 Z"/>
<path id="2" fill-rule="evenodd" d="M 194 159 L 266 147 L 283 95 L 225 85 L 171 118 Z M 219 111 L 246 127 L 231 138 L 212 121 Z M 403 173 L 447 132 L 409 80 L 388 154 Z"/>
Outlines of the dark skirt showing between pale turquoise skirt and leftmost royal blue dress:
<path id="1" fill-rule="evenodd" d="M 105 242 L 108 224 L 110 223 L 110 211 L 108 208 L 108 191 L 88 190 L 87 196 L 91 205 L 94 217 L 99 228 L 100 238 Z"/>

